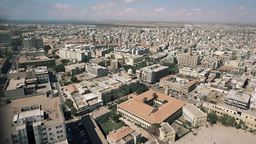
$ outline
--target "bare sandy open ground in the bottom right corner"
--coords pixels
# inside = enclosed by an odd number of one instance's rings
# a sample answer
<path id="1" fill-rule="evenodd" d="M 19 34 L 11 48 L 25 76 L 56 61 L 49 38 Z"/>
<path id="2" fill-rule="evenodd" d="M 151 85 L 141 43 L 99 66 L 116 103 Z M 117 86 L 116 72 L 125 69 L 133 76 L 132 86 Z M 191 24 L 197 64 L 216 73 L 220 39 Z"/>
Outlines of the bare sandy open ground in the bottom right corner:
<path id="1" fill-rule="evenodd" d="M 221 124 L 200 127 L 201 130 L 190 132 L 183 136 L 174 144 L 255 144 L 256 134 L 236 128 L 230 128 Z"/>

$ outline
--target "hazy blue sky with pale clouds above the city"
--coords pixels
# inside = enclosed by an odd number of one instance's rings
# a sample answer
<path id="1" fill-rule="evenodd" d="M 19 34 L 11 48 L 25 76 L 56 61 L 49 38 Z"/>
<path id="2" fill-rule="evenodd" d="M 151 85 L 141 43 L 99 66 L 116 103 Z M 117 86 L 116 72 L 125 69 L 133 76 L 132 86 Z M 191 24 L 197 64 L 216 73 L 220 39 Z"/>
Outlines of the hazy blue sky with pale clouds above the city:
<path id="1" fill-rule="evenodd" d="M 256 23 L 256 0 L 0 0 L 4 20 Z"/>

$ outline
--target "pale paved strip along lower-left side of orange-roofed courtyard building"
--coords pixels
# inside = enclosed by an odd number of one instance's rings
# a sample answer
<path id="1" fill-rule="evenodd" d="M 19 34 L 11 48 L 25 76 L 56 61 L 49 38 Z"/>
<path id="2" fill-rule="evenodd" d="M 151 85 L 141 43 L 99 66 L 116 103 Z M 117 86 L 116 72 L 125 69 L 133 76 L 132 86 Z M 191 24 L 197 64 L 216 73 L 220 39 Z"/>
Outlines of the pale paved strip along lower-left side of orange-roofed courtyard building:
<path id="1" fill-rule="evenodd" d="M 128 121 L 124 118 L 119 118 L 120 120 L 124 121 L 125 124 L 127 124 L 128 126 L 130 126 L 130 128 L 134 129 L 134 130 L 138 130 L 139 132 L 141 132 L 141 136 L 145 137 L 146 139 L 148 139 L 144 144 L 150 144 L 152 141 L 154 141 L 154 138 L 145 130 L 143 130 L 142 128 L 137 127 L 136 125 L 134 125 L 131 121 Z M 142 140 L 143 142 L 143 140 Z"/>

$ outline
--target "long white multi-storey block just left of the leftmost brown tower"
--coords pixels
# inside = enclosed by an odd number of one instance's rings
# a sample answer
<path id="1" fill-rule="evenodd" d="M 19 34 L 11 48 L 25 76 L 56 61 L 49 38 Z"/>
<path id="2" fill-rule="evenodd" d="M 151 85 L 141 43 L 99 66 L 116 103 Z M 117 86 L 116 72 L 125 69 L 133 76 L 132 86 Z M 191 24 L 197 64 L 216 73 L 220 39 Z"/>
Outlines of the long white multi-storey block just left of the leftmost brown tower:
<path id="1" fill-rule="evenodd" d="M 78 62 L 88 61 L 92 58 L 90 50 L 83 50 L 80 48 L 60 48 L 60 58 L 75 60 Z"/>

